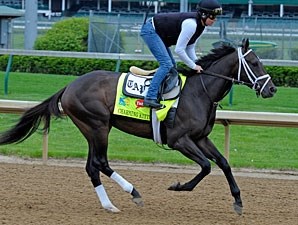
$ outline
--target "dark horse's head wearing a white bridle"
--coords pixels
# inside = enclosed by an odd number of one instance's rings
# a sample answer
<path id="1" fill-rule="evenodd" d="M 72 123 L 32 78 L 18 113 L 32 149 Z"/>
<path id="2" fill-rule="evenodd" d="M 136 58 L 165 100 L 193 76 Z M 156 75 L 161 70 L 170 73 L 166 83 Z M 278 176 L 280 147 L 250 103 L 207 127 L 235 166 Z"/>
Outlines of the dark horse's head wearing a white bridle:
<path id="1" fill-rule="evenodd" d="M 249 40 L 243 39 L 242 45 L 237 48 L 238 53 L 238 80 L 251 83 L 257 95 L 263 98 L 270 98 L 276 93 L 277 88 L 271 77 L 266 73 L 259 57 L 249 49 Z"/>

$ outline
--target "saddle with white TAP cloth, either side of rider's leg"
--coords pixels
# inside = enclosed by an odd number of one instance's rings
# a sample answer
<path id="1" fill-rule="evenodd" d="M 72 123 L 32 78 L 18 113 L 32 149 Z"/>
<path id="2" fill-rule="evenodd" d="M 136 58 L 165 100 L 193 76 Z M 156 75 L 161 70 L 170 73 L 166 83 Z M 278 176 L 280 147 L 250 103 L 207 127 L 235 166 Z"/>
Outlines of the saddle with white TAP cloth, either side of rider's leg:
<path id="1" fill-rule="evenodd" d="M 144 70 L 132 66 L 123 83 L 123 94 L 133 98 L 144 99 L 155 70 Z M 181 78 L 175 68 L 167 74 L 159 89 L 159 99 L 172 100 L 178 98 L 181 91 Z"/>

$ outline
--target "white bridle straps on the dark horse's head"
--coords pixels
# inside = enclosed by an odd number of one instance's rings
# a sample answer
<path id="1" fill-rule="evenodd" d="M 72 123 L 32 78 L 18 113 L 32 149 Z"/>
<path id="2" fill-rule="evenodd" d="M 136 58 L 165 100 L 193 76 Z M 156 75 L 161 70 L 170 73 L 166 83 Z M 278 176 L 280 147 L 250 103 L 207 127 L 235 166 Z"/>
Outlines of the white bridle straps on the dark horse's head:
<path id="1" fill-rule="evenodd" d="M 252 89 L 255 90 L 258 94 L 261 94 L 271 78 L 270 78 L 269 74 L 265 74 L 260 77 L 257 77 L 254 74 L 254 72 L 251 70 L 251 68 L 249 67 L 248 63 L 245 60 L 245 56 L 247 56 L 251 51 L 252 50 L 249 49 L 245 54 L 243 54 L 242 48 L 241 47 L 238 48 L 238 60 L 239 60 L 238 81 L 240 81 L 240 73 L 241 73 L 241 69 L 243 67 L 247 78 L 252 83 Z M 263 79 L 266 79 L 266 81 L 264 82 L 263 86 L 260 86 L 259 81 L 263 80 Z"/>

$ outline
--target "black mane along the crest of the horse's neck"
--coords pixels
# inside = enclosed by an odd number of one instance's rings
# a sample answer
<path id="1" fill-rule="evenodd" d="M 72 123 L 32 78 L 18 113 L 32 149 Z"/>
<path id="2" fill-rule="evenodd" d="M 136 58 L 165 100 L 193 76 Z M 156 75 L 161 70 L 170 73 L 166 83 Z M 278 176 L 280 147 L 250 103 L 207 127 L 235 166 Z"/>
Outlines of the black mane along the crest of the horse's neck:
<path id="1" fill-rule="evenodd" d="M 208 55 L 198 59 L 196 64 L 200 65 L 204 70 L 209 68 L 212 63 L 221 59 L 222 57 L 234 52 L 236 49 L 230 45 L 221 45 L 218 48 L 214 48 Z"/>

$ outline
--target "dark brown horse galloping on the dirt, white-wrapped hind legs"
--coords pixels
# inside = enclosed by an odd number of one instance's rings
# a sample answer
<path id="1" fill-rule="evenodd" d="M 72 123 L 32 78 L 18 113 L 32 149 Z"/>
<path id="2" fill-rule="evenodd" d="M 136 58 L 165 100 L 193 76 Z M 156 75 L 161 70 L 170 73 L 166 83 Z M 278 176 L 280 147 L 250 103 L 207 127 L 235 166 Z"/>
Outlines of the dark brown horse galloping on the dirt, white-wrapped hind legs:
<path id="1" fill-rule="evenodd" d="M 201 171 L 192 180 L 184 184 L 175 183 L 169 190 L 192 191 L 210 173 L 211 160 L 222 169 L 235 200 L 234 210 L 238 214 L 242 213 L 243 207 L 240 190 L 230 165 L 208 135 L 215 122 L 218 102 L 228 93 L 233 83 L 242 83 L 263 98 L 272 97 L 276 92 L 259 58 L 248 47 L 249 41 L 246 39 L 240 47 L 222 46 L 202 57 L 198 64 L 204 68 L 204 72 L 196 74 L 189 71 L 180 94 L 174 125 L 162 129 L 164 144 L 201 167 Z M 24 141 L 38 129 L 42 121 L 43 128 L 48 129 L 51 116 L 61 117 L 64 113 L 88 142 L 86 171 L 102 207 L 111 212 L 119 211 L 101 183 L 100 172 L 130 193 L 133 202 L 143 205 L 139 192 L 109 166 L 107 159 L 108 135 L 112 127 L 138 137 L 153 139 L 150 122 L 113 114 L 119 76 L 120 73 L 116 72 L 93 71 L 79 77 L 47 100 L 27 110 L 14 127 L 2 133 L 0 144 Z"/>

